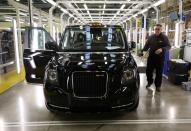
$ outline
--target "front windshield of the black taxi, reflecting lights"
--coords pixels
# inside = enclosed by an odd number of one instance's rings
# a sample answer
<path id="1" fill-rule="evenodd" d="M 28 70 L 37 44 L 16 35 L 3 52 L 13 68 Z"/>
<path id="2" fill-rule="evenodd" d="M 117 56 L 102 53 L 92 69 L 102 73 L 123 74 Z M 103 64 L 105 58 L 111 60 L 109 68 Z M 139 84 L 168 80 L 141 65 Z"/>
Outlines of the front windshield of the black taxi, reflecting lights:
<path id="1" fill-rule="evenodd" d="M 111 51 L 125 49 L 120 27 L 79 26 L 67 28 L 60 42 L 63 50 Z"/>

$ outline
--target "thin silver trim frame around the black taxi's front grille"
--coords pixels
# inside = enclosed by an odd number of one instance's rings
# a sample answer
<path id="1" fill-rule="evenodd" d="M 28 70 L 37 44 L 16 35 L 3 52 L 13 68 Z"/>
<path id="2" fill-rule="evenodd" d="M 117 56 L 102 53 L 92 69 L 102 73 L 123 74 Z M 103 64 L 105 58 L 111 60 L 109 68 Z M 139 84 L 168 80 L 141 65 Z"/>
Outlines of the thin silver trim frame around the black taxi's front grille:
<path id="1" fill-rule="evenodd" d="M 76 72 L 102 72 L 102 73 L 104 72 L 104 73 L 106 73 L 107 78 L 106 78 L 106 91 L 105 91 L 105 94 L 103 96 L 101 96 L 101 97 L 79 97 L 79 96 L 77 96 L 74 93 L 74 80 L 73 80 L 73 75 Z M 73 95 L 76 98 L 84 98 L 84 99 L 85 98 L 106 98 L 106 95 L 107 95 L 107 92 L 108 92 L 108 73 L 106 71 L 74 71 L 74 72 L 72 72 L 72 89 L 73 89 Z"/>

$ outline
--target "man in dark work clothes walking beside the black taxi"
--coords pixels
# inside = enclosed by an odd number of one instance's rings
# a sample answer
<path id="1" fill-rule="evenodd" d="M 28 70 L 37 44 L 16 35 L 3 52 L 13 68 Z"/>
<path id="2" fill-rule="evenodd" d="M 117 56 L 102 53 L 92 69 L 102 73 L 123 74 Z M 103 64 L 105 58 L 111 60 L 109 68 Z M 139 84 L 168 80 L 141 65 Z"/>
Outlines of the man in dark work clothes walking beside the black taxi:
<path id="1" fill-rule="evenodd" d="M 155 87 L 156 91 L 161 91 L 162 72 L 164 63 L 164 54 L 171 46 L 166 35 L 162 33 L 162 25 L 155 25 L 155 33 L 149 36 L 144 48 L 143 54 L 149 54 L 147 58 L 146 76 L 148 89 L 153 84 L 153 72 L 156 70 Z"/>

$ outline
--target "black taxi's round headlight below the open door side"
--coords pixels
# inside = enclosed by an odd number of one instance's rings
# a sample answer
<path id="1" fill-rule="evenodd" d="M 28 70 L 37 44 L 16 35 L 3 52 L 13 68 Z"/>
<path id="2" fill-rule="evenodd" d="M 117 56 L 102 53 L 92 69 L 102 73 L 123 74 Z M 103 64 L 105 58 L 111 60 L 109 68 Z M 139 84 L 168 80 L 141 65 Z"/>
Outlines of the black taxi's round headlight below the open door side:
<path id="1" fill-rule="evenodd" d="M 57 81 L 58 81 L 57 70 L 49 69 L 47 72 L 47 79 L 50 83 L 57 83 Z"/>

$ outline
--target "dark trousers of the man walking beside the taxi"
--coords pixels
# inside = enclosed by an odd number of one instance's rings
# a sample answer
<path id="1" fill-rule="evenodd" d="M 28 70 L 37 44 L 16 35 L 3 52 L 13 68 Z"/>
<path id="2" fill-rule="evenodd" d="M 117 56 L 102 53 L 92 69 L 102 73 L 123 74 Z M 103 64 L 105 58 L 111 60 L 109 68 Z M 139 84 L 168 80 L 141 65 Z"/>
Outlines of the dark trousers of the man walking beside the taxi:
<path id="1" fill-rule="evenodd" d="M 147 60 L 146 75 L 148 84 L 153 83 L 153 73 L 156 71 L 155 86 L 161 87 L 163 72 L 163 57 L 150 57 Z"/>

